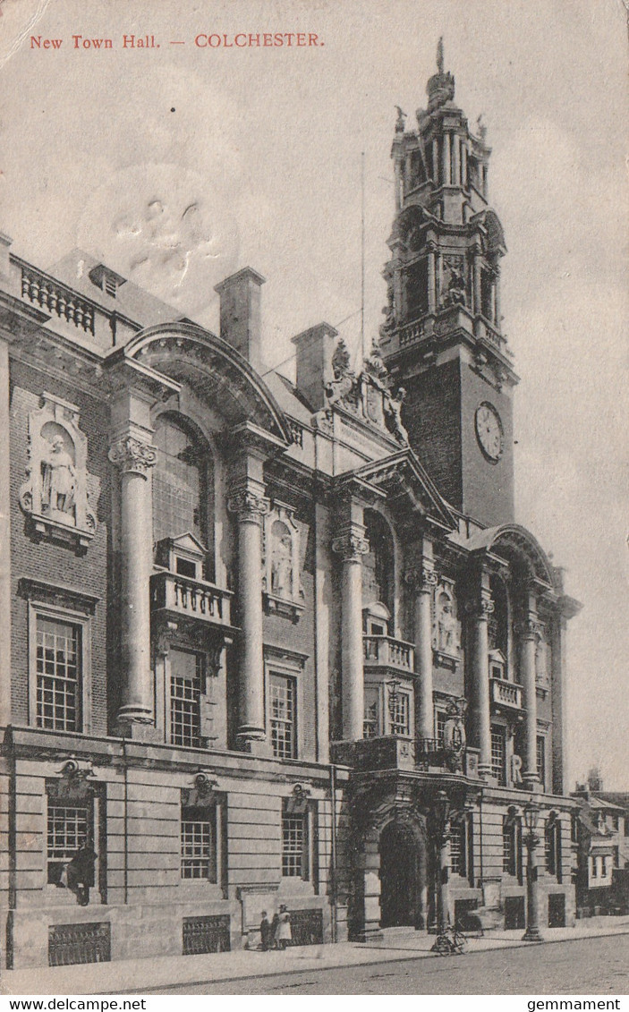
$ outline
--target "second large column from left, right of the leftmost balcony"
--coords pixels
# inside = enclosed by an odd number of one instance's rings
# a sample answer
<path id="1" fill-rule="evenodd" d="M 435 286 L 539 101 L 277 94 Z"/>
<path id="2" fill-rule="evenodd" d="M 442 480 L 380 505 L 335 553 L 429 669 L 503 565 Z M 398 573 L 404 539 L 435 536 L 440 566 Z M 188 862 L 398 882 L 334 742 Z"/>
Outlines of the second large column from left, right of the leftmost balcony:
<path id="1" fill-rule="evenodd" d="M 267 749 L 262 635 L 262 518 L 269 510 L 261 481 L 248 476 L 232 488 L 228 505 L 238 517 L 238 600 L 241 622 L 238 745 L 244 752 Z"/>

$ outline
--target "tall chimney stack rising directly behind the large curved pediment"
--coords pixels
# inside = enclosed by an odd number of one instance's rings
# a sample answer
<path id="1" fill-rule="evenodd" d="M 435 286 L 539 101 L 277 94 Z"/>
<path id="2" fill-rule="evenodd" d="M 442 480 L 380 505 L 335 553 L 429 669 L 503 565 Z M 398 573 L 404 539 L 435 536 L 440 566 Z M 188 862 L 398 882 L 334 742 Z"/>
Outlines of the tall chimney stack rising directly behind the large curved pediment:
<path id="1" fill-rule="evenodd" d="M 220 337 L 258 371 L 262 367 L 260 288 L 265 280 L 251 267 L 243 267 L 214 288 L 220 298 Z"/>

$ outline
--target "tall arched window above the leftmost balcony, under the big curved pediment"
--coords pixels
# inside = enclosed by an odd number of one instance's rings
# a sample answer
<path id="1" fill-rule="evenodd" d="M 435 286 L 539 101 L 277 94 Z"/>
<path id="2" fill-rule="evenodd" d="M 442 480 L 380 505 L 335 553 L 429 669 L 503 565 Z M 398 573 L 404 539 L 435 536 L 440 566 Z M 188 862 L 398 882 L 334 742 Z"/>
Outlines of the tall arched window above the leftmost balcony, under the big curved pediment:
<path id="1" fill-rule="evenodd" d="M 160 415 L 155 428 L 153 537 L 191 533 L 208 547 L 208 489 L 211 457 L 192 431 L 172 415 Z"/>

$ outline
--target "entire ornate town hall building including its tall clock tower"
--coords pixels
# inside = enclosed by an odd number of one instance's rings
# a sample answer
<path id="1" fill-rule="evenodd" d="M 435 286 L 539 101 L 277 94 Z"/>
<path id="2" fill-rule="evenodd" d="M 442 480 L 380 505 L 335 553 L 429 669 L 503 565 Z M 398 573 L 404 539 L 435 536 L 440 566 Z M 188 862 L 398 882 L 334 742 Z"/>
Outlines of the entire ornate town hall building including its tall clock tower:
<path id="1" fill-rule="evenodd" d="M 216 336 L 2 237 L 3 963 L 255 945 L 280 904 L 296 943 L 427 930 L 444 874 L 452 919 L 517 927 L 532 793 L 541 923 L 572 921 L 578 605 L 514 517 L 489 154 L 440 57 L 378 344 L 355 372 L 311 327 L 294 384 L 255 270 Z"/>

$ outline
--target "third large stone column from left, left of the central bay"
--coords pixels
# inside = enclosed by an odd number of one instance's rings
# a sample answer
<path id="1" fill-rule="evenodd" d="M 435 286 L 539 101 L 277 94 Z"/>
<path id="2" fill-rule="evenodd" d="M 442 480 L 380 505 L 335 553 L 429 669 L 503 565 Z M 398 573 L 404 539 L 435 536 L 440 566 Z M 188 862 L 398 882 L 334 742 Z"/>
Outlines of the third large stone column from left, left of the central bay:
<path id="1" fill-rule="evenodd" d="M 343 679 L 343 738 L 363 737 L 365 712 L 362 556 L 369 551 L 362 524 L 362 507 L 352 504 L 352 519 L 332 542 L 343 561 L 341 597 L 341 670 Z M 360 520 L 359 520 L 360 517 Z"/>

